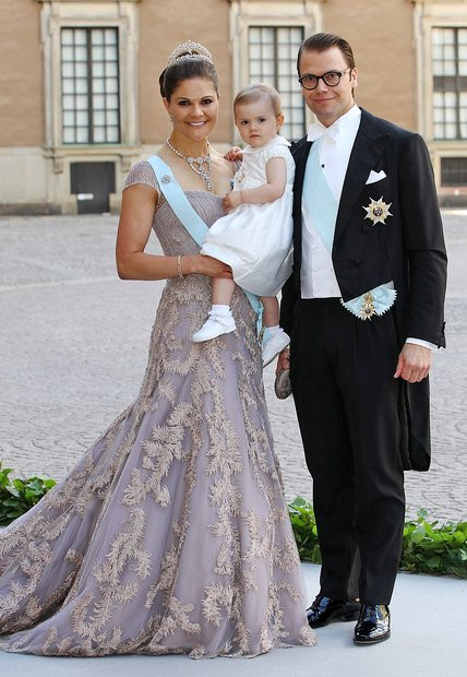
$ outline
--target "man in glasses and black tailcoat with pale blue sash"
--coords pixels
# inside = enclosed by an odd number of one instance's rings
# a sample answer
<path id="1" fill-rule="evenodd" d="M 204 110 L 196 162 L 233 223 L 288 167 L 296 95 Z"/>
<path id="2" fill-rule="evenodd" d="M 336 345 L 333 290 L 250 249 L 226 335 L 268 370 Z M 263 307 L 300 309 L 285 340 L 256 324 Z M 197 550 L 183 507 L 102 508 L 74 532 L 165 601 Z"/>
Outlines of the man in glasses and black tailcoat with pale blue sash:
<path id="1" fill-rule="evenodd" d="M 323 565 L 308 617 L 312 627 L 358 618 L 355 642 L 371 644 L 391 632 L 403 471 L 429 466 L 427 376 L 431 348 L 445 345 L 446 254 L 427 147 L 356 106 L 350 45 L 306 39 L 298 73 L 318 122 L 292 149 L 295 262 L 280 324 L 290 363 L 283 352 L 278 370 L 290 364 L 313 476 Z"/>

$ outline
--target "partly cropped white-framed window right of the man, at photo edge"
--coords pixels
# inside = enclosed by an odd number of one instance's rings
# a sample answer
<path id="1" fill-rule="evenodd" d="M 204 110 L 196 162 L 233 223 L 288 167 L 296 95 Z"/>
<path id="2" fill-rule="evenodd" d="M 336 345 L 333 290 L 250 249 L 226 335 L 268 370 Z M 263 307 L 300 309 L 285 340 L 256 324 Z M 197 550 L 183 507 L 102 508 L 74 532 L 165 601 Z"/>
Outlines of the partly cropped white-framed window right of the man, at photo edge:
<path id="1" fill-rule="evenodd" d="M 467 139 L 467 27 L 434 27 L 433 138 Z"/>

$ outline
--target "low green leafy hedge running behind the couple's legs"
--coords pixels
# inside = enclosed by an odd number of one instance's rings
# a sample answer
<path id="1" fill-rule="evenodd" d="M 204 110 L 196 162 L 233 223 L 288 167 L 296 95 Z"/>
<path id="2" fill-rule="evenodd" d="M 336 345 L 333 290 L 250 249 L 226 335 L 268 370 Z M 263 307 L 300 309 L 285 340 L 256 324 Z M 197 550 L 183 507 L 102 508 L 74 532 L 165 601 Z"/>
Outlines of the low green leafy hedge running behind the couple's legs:
<path id="1" fill-rule="evenodd" d="M 56 482 L 28 477 L 12 479 L 12 468 L 0 461 L 0 526 L 29 510 Z M 298 497 L 289 504 L 289 516 L 302 561 L 321 562 L 318 528 L 312 504 Z M 467 522 L 429 522 L 426 510 L 404 525 L 400 569 L 417 573 L 444 573 L 467 578 Z"/>

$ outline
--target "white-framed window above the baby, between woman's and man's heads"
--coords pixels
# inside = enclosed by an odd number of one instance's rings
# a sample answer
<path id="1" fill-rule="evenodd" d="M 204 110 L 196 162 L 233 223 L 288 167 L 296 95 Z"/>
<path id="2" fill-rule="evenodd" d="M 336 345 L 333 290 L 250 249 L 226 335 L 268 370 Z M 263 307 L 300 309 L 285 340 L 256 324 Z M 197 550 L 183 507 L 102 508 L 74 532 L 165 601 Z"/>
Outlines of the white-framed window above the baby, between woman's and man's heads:
<path id="1" fill-rule="evenodd" d="M 297 54 L 303 40 L 301 26 L 250 26 L 250 82 L 275 87 L 286 118 L 280 133 L 297 140 L 304 134 L 304 103 L 297 82 Z"/>

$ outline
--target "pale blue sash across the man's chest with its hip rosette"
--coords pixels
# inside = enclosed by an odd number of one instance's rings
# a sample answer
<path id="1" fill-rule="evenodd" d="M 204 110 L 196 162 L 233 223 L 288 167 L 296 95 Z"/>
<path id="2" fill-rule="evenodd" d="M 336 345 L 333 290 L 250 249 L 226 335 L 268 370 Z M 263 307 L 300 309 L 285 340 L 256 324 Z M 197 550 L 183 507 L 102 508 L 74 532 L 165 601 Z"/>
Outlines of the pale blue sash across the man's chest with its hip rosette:
<path id="1" fill-rule="evenodd" d="M 321 139 L 314 141 L 308 156 L 303 177 L 302 200 L 311 215 L 313 227 L 320 235 L 327 251 L 332 254 L 339 205 L 321 167 L 320 142 Z M 381 316 L 383 312 L 386 312 L 394 304 L 396 296 L 397 293 L 394 289 L 394 284 L 388 282 L 349 301 L 344 302 L 340 299 L 340 302 L 344 308 L 360 320 L 368 320 L 373 314 Z"/>

